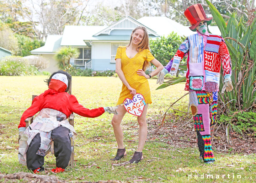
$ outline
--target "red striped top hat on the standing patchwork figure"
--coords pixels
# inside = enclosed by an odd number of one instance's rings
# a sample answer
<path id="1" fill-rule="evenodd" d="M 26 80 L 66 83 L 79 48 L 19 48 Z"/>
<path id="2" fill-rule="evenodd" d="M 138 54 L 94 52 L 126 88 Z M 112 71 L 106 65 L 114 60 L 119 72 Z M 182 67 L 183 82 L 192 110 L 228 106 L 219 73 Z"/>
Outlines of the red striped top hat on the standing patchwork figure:
<path id="1" fill-rule="evenodd" d="M 196 31 L 196 27 L 201 21 L 207 21 L 207 25 L 212 22 L 212 17 L 207 18 L 204 12 L 203 6 L 201 4 L 195 4 L 188 7 L 184 12 L 185 17 L 191 23 L 191 31 Z"/>

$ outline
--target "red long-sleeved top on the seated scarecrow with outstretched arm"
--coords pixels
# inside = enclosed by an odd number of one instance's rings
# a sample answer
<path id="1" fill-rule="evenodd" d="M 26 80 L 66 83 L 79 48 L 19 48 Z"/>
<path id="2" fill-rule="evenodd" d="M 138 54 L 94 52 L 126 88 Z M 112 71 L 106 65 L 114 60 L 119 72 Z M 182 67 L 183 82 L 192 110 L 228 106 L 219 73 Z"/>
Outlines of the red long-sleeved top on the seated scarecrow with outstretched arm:
<path id="1" fill-rule="evenodd" d="M 31 117 L 44 108 L 55 109 L 57 111 L 63 112 L 67 117 L 69 117 L 70 114 L 74 112 L 84 117 L 95 118 L 105 112 L 103 107 L 91 110 L 84 108 L 81 104 L 78 103 L 74 95 L 69 95 L 67 92 L 58 92 L 52 89 L 48 89 L 33 99 L 32 105 L 22 114 L 18 128 L 26 127 L 25 119 Z"/>

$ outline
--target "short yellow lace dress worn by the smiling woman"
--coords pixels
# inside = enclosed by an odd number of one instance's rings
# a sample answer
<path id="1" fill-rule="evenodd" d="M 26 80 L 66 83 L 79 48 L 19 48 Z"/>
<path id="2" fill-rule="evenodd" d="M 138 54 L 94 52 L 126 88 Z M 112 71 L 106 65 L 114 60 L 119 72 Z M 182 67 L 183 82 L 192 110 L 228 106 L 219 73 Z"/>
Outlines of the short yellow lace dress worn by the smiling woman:
<path id="1" fill-rule="evenodd" d="M 130 59 L 126 55 L 126 47 L 120 46 L 117 48 L 115 59 L 121 59 L 122 71 L 129 85 L 134 88 L 137 93 L 144 96 L 146 103 L 152 103 L 148 80 L 144 76 L 137 74 L 138 69 L 142 69 L 145 60 L 149 62 L 154 59 L 150 51 L 144 49 Z M 123 103 L 125 98 L 132 99 L 133 96 L 130 94 L 130 90 L 123 84 L 117 105 Z"/>

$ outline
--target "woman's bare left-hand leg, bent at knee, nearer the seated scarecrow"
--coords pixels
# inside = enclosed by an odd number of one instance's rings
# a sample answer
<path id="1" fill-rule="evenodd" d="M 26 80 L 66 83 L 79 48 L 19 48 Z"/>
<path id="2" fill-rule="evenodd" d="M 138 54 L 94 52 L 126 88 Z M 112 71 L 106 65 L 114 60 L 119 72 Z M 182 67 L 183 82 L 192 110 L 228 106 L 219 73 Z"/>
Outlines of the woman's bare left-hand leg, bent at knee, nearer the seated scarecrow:
<path id="1" fill-rule="evenodd" d="M 118 149 L 124 149 L 123 130 L 121 127 L 121 122 L 124 117 L 124 114 L 126 113 L 126 109 L 124 108 L 124 106 L 119 105 L 116 110 L 117 110 L 118 114 L 117 115 L 114 114 L 111 124 L 114 129 L 114 135 L 116 137 Z"/>

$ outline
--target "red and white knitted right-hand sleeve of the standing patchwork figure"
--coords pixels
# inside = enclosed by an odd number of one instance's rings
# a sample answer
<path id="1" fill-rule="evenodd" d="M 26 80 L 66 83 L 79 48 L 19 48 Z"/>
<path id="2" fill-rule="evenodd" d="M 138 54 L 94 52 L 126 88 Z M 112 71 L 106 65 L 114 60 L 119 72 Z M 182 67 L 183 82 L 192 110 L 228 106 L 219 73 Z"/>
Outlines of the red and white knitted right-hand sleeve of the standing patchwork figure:
<path id="1" fill-rule="evenodd" d="M 223 75 L 231 75 L 231 59 L 229 55 L 228 47 L 225 42 L 220 42 L 219 47 L 220 60 L 222 61 Z"/>

